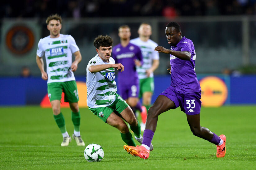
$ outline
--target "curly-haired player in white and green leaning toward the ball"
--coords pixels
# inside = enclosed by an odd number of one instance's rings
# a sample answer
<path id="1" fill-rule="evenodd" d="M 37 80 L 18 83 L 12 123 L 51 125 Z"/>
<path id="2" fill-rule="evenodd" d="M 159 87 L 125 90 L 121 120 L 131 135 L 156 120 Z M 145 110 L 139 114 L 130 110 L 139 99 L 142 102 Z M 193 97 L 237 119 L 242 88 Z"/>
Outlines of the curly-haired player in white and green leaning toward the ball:
<path id="1" fill-rule="evenodd" d="M 135 139 L 140 143 L 141 127 L 132 109 L 116 93 L 115 68 L 122 72 L 124 66 L 121 63 L 115 64 L 115 60 L 110 57 L 112 43 L 113 39 L 107 35 L 97 36 L 93 42 L 97 55 L 86 67 L 87 105 L 102 121 L 120 130 L 121 138 L 127 145 L 136 146 L 124 120 L 130 125 Z M 150 146 L 150 150 L 152 149 L 153 146 Z"/>

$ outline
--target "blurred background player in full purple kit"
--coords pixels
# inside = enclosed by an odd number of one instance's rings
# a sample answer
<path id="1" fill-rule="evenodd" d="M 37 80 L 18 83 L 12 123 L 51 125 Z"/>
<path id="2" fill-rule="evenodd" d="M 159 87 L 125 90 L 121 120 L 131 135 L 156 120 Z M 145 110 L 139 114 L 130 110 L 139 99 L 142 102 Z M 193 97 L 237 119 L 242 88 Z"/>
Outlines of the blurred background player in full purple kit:
<path id="1" fill-rule="evenodd" d="M 128 25 L 119 27 L 118 32 L 121 43 L 113 48 L 112 57 L 116 63 L 121 63 L 125 67 L 125 70 L 122 73 L 119 71 L 118 74 L 120 96 L 132 108 L 134 114 L 136 110 L 140 111 L 142 123 L 145 123 L 147 112 L 145 107 L 142 109 L 139 102 L 139 79 L 136 71 L 136 66 L 143 63 L 141 50 L 129 42 L 131 31 Z"/>

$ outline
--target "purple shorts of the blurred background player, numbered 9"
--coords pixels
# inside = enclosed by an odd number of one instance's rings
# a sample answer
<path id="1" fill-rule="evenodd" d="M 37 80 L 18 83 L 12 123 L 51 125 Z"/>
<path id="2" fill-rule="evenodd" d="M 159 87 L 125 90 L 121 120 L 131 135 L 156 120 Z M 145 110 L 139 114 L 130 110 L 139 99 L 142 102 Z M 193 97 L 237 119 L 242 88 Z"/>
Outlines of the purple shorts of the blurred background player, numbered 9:
<path id="1" fill-rule="evenodd" d="M 120 84 L 118 86 L 119 95 L 124 99 L 129 97 L 138 97 L 139 96 L 139 84 Z"/>

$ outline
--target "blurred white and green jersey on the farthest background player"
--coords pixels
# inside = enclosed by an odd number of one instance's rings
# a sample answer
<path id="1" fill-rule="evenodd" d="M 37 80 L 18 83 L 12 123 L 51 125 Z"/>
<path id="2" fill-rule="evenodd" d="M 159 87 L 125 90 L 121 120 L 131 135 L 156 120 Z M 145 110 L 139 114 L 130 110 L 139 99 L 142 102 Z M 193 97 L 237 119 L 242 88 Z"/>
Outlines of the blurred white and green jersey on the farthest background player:
<path id="1" fill-rule="evenodd" d="M 159 53 L 157 51 L 154 51 L 155 47 L 158 46 L 154 41 L 147 40 L 142 41 L 139 37 L 130 40 L 132 44 L 135 44 L 140 47 L 142 57 L 143 57 L 143 65 L 138 67 L 137 66 L 137 72 L 139 79 L 145 79 L 146 76 L 146 70 L 150 69 L 152 67 L 152 61 L 153 60 L 159 60 Z M 153 77 L 153 72 L 150 74 L 150 77 Z"/>

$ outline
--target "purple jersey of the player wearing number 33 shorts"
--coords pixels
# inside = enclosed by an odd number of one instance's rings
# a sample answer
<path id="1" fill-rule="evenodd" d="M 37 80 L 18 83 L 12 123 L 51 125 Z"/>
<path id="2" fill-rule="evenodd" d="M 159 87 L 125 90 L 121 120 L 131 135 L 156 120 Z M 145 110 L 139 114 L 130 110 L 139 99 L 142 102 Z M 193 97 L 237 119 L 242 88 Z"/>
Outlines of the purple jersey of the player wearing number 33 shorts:
<path id="1" fill-rule="evenodd" d="M 195 47 L 193 42 L 183 36 L 176 46 L 171 46 L 171 50 L 188 51 L 191 53 L 190 60 L 182 60 L 174 55 L 170 55 L 171 86 L 183 93 L 201 91 L 200 84 L 195 74 Z"/>

